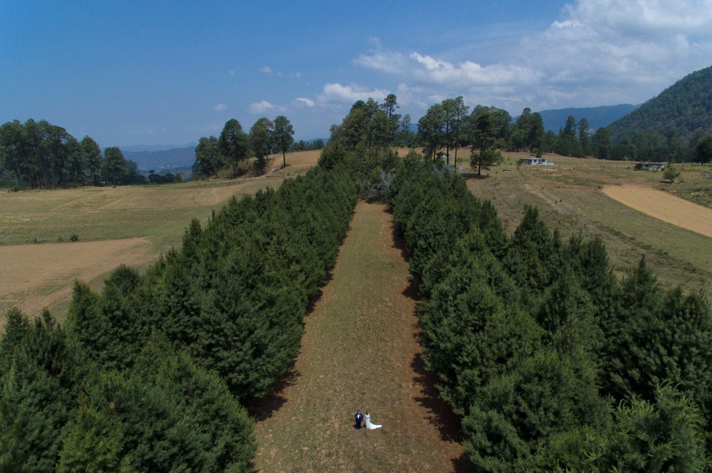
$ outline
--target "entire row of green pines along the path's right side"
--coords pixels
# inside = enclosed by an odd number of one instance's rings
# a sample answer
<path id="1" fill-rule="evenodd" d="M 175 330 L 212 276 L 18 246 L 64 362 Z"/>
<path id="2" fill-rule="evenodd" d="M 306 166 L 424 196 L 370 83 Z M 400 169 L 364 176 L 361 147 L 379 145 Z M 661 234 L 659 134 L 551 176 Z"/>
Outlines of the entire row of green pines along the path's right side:
<path id="1" fill-rule="evenodd" d="M 511 236 L 445 166 L 389 186 L 420 282 L 426 367 L 483 472 L 701 472 L 712 312 L 643 259 L 619 280 L 600 238 L 565 242 L 535 208 Z"/>

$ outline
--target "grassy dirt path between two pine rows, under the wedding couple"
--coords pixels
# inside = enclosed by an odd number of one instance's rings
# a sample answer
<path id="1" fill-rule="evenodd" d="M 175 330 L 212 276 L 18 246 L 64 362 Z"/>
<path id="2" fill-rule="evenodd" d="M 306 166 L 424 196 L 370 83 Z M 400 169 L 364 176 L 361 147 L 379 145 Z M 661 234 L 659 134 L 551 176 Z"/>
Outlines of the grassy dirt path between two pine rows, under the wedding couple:
<path id="1" fill-rule="evenodd" d="M 293 376 L 251 406 L 258 471 L 470 471 L 459 422 L 422 369 L 414 293 L 386 207 L 359 203 Z M 383 427 L 356 430 L 356 409 Z"/>

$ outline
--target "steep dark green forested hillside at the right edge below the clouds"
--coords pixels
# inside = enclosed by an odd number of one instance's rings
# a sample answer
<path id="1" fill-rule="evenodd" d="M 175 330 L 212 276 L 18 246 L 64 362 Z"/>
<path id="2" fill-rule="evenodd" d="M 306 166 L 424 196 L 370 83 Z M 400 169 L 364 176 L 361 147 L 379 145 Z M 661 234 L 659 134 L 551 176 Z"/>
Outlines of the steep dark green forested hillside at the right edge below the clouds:
<path id="1" fill-rule="evenodd" d="M 637 135 L 665 137 L 695 147 L 712 133 L 712 66 L 677 81 L 608 129 L 614 142 Z"/>

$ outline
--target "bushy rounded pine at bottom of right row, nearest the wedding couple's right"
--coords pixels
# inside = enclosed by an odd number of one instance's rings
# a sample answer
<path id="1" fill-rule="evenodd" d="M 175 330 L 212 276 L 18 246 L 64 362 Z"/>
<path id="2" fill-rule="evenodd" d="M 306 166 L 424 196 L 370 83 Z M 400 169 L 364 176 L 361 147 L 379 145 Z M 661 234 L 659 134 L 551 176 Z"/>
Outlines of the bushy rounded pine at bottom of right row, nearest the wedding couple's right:
<path id="1" fill-rule="evenodd" d="M 486 472 L 577 470 L 585 427 L 603 427 L 608 406 L 597 394 L 595 370 L 541 349 L 494 378 L 463 420 L 465 447 Z"/>

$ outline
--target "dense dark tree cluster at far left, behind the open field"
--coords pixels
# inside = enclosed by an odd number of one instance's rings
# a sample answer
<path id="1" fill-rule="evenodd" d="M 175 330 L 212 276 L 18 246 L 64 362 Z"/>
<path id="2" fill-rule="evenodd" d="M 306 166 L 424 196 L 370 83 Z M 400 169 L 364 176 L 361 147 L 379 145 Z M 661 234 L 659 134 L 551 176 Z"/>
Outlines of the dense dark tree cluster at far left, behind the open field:
<path id="1" fill-rule="evenodd" d="M 117 147 L 102 154 L 91 137 L 80 141 L 46 120 L 0 125 L 0 183 L 14 188 L 147 184 L 137 164 Z"/>

